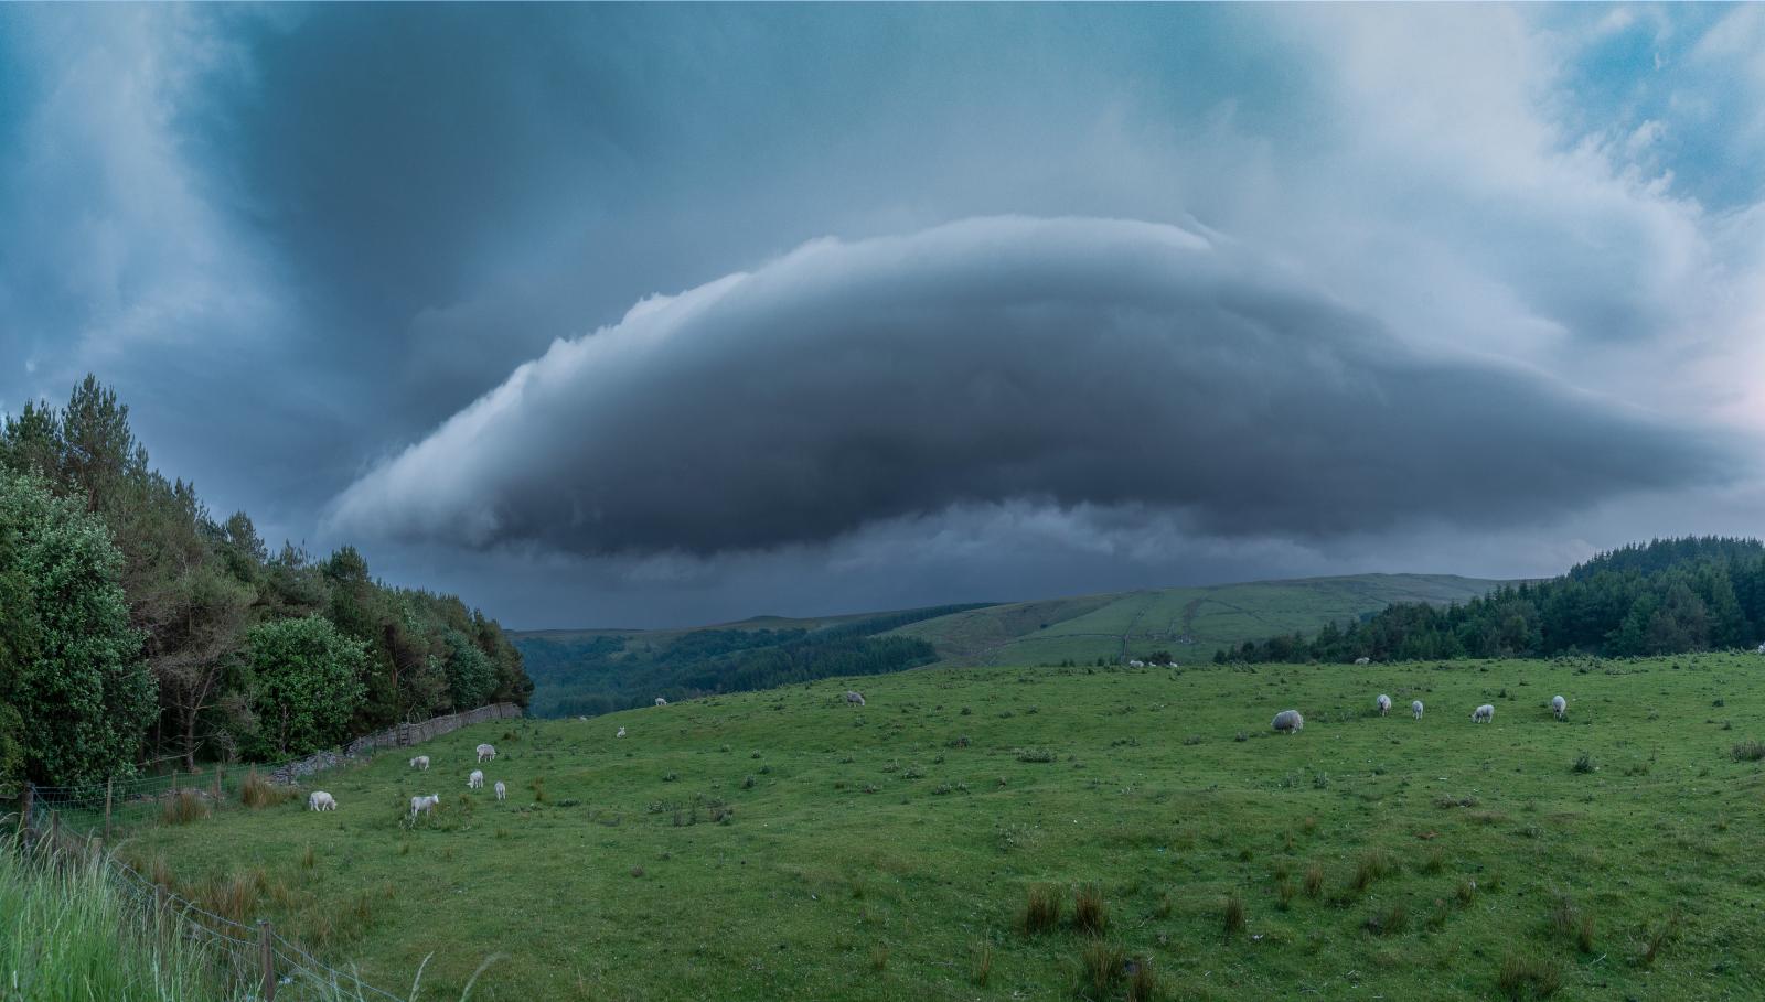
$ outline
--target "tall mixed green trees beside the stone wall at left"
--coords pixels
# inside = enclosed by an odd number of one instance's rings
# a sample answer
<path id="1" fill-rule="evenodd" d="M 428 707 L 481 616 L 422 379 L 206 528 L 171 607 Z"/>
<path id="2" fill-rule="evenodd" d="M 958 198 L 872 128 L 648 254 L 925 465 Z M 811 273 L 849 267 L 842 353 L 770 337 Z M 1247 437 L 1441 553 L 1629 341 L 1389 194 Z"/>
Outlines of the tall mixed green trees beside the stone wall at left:
<path id="1" fill-rule="evenodd" d="M 212 517 L 95 378 L 0 427 L 0 796 L 300 755 L 530 692 L 501 628 L 459 598 Z"/>

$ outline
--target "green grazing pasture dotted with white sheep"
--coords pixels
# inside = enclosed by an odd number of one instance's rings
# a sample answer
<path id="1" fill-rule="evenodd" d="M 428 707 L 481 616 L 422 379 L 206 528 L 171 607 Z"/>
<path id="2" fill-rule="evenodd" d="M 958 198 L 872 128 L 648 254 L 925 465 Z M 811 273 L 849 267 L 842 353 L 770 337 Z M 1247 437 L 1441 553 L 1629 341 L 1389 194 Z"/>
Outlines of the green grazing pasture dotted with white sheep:
<path id="1" fill-rule="evenodd" d="M 1126 998 L 1131 968 L 1161 998 L 1758 998 L 1765 764 L 1733 750 L 1765 737 L 1761 669 L 835 679 L 466 729 L 429 773 L 318 778 L 335 813 L 233 808 L 122 852 L 401 995 L 429 954 L 443 998 L 503 954 L 473 998 Z M 1303 734 L 1269 732 L 1283 707 Z M 478 741 L 505 804 L 466 792 Z M 1024 931 L 1038 887 L 1061 914 Z"/>

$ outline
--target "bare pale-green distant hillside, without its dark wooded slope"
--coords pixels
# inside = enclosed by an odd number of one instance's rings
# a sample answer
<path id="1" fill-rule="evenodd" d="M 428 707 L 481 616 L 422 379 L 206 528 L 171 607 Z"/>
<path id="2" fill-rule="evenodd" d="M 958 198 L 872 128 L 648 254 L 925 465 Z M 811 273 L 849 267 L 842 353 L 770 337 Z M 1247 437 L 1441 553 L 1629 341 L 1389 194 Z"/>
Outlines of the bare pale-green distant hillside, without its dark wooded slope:
<path id="1" fill-rule="evenodd" d="M 932 644 L 941 665 L 1093 663 L 1168 651 L 1179 663 L 1326 623 L 1354 621 L 1391 603 L 1467 602 L 1502 580 L 1449 573 L 1363 573 L 1158 587 L 992 605 L 893 630 Z"/>

